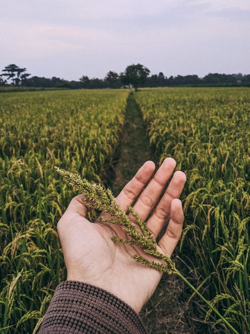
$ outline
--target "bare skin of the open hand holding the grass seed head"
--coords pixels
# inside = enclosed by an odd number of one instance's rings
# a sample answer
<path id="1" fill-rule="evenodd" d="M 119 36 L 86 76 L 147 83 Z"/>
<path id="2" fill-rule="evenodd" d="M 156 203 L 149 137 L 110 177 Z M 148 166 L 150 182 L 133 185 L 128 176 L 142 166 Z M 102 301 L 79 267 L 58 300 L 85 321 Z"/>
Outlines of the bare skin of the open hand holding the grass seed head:
<path id="1" fill-rule="evenodd" d="M 186 181 L 183 172 L 177 171 L 173 174 L 161 200 L 157 206 L 155 204 L 170 179 L 175 164 L 172 158 L 166 158 L 144 188 L 155 169 L 152 161 L 145 162 L 116 198 L 123 210 L 136 200 L 133 208 L 143 221 L 149 216 L 147 226 L 155 238 L 168 223 L 157 244 L 158 251 L 168 257 L 180 238 L 184 220 L 181 201 L 178 199 Z M 82 195 L 78 195 L 71 200 L 57 224 L 67 280 L 100 287 L 125 301 L 138 313 L 152 296 L 162 272 L 131 258 L 137 253 L 149 260 L 155 260 L 141 248 L 111 240 L 112 235 L 125 237 L 121 226 L 101 223 L 98 220 L 90 223 L 85 218 L 87 208 L 81 198 Z M 131 220 L 133 222 L 133 219 Z M 164 263 L 158 259 L 156 261 Z"/>

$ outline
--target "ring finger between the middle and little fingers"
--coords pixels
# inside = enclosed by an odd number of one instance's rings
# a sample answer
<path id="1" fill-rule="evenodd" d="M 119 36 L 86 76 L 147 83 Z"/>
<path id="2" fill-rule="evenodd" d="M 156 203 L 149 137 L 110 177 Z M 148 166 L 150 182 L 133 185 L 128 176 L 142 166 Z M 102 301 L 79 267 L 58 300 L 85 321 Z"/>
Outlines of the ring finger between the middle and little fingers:
<path id="1" fill-rule="evenodd" d="M 171 202 L 174 198 L 179 198 L 185 182 L 185 174 L 181 171 L 175 172 L 152 216 L 148 219 L 147 227 L 155 238 L 158 236 L 159 232 L 168 221 Z"/>

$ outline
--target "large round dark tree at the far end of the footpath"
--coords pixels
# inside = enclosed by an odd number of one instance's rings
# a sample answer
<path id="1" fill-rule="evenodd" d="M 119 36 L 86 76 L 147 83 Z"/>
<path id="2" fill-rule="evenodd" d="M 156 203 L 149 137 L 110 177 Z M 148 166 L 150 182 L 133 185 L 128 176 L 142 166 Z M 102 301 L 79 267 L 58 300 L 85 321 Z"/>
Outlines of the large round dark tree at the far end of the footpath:
<path id="1" fill-rule="evenodd" d="M 140 85 L 143 85 L 150 71 L 141 64 L 129 65 L 125 72 L 120 74 L 120 80 L 123 85 L 132 85 L 135 92 Z"/>

